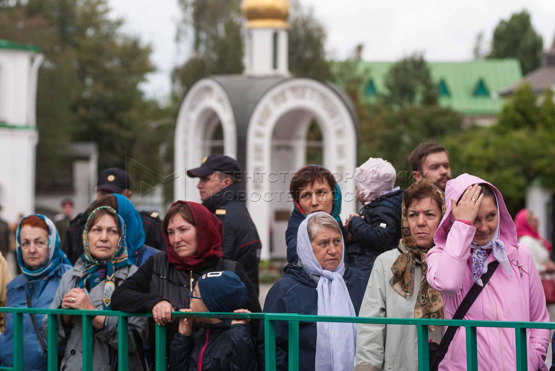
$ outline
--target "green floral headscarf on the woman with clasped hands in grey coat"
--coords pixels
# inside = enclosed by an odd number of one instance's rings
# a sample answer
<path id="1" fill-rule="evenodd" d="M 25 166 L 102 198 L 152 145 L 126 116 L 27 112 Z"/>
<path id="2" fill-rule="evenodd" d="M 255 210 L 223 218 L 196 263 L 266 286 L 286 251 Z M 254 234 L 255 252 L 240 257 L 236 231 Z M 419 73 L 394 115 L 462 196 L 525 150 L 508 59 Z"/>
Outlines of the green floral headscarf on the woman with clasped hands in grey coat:
<path id="1" fill-rule="evenodd" d="M 119 236 L 118 246 L 115 249 L 112 258 L 100 260 L 90 253 L 89 249 L 89 221 L 98 210 L 109 209 L 113 215 L 117 215 L 117 220 L 119 222 L 119 229 L 122 234 Z M 104 310 L 110 310 L 110 303 L 112 302 L 112 294 L 115 290 L 115 270 L 118 268 L 125 267 L 125 265 L 132 265 L 133 263 L 127 258 L 127 243 L 125 242 L 125 222 L 123 218 L 111 207 L 100 206 L 90 213 L 87 224 L 85 224 L 85 229 L 83 230 L 83 250 L 84 253 L 82 258 L 85 260 L 85 265 L 83 269 L 83 274 L 77 283 L 77 287 L 83 288 L 87 287 L 89 290 L 95 287 L 97 284 L 101 283 L 104 279 L 104 294 L 102 296 L 102 302 L 104 304 Z"/>

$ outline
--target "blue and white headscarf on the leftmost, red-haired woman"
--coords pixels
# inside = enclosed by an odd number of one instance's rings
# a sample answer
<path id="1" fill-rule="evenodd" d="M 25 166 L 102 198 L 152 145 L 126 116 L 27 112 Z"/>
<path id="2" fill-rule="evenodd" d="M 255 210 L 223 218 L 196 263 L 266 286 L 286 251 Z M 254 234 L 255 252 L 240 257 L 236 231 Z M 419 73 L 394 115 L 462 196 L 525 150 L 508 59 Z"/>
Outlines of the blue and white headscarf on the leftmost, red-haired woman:
<path id="1" fill-rule="evenodd" d="M 37 217 L 44 220 L 46 225 L 48 226 L 48 254 L 44 263 L 42 263 L 41 267 L 37 270 L 29 270 L 25 263 L 23 262 L 23 257 L 21 255 L 21 244 L 19 243 L 19 232 L 21 231 L 21 221 L 31 215 L 36 215 Z M 52 222 L 52 220 L 48 219 L 44 215 L 41 214 L 30 214 L 26 217 L 21 218 L 19 223 L 17 224 L 17 232 L 16 232 L 16 249 L 17 249 L 17 263 L 25 277 L 30 280 L 44 278 L 47 275 L 51 274 L 52 272 L 56 272 L 61 264 L 68 264 L 72 265 L 67 256 L 65 256 L 64 252 L 60 250 L 60 236 L 58 234 L 58 229 Z"/>

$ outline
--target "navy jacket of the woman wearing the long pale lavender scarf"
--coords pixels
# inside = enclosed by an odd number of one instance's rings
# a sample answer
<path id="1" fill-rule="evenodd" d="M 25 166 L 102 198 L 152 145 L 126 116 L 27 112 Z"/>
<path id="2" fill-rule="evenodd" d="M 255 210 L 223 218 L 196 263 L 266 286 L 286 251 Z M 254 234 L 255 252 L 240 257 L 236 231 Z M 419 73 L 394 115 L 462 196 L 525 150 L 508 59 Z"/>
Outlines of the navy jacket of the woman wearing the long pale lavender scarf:
<path id="1" fill-rule="evenodd" d="M 274 284 L 266 296 L 264 313 L 318 314 L 318 283 L 310 278 L 305 269 L 296 264 L 287 264 L 283 278 Z M 359 315 L 360 305 L 368 278 L 360 270 L 346 264 L 343 275 L 349 290 L 351 302 Z M 289 368 L 289 325 L 284 321 L 275 322 L 276 370 Z M 258 335 L 259 369 L 264 370 L 264 321 L 260 321 Z M 316 358 L 316 323 L 299 323 L 299 370 L 314 371 Z"/>

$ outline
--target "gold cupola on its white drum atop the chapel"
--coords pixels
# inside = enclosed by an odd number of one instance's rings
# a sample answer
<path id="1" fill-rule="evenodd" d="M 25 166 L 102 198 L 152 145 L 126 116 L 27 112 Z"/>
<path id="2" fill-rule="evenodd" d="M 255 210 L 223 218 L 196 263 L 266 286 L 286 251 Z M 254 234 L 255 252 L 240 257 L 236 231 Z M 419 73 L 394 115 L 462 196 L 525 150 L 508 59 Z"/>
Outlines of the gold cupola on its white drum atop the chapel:
<path id="1" fill-rule="evenodd" d="M 289 0 L 243 0 L 245 74 L 289 76 Z"/>

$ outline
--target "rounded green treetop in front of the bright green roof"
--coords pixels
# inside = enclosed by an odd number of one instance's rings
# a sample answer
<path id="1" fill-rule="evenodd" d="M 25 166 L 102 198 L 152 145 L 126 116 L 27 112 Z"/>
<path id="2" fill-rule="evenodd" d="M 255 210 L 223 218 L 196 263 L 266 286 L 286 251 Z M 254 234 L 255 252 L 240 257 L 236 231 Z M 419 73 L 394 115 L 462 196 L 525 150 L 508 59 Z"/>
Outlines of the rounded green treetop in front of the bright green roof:
<path id="1" fill-rule="evenodd" d="M 437 104 L 437 88 L 421 53 L 413 53 L 393 64 L 385 76 L 385 87 L 387 93 L 383 99 L 391 108 Z"/>

